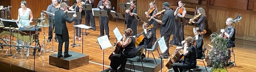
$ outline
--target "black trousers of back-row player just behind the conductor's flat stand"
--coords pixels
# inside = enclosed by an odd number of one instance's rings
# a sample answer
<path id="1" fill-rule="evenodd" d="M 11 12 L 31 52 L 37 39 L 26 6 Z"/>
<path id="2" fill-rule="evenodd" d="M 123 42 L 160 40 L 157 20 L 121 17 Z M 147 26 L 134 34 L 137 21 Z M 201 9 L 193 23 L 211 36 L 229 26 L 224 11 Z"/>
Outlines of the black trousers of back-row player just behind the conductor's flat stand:
<path id="1" fill-rule="evenodd" d="M 92 12 L 86 12 L 86 18 L 85 18 L 86 26 L 90 26 L 90 21 L 91 21 L 91 27 L 93 29 L 96 29 L 95 19 L 94 19 L 94 16 L 92 15 Z"/>

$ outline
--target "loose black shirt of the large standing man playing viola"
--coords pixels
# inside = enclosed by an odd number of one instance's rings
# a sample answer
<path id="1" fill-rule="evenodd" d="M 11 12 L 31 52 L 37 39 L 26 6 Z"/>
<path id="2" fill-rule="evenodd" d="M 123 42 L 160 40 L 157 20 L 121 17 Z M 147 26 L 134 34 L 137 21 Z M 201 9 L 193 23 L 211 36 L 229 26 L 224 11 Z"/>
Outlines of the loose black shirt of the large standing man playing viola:
<path id="1" fill-rule="evenodd" d="M 161 35 L 172 35 L 174 33 L 174 12 L 172 9 L 166 9 L 164 12 L 161 24 L 160 34 Z"/>

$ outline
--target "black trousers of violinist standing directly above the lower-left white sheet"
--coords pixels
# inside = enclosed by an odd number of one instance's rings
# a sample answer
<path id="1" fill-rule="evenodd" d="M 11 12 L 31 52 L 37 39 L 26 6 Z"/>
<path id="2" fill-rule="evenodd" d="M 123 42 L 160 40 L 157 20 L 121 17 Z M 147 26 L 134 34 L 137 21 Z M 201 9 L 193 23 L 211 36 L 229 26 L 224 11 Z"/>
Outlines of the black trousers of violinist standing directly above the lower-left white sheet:
<path id="1" fill-rule="evenodd" d="M 100 23 L 100 36 L 104 36 L 104 29 L 106 35 L 108 35 L 109 38 L 109 27 L 108 27 L 108 17 L 101 17 L 101 23 Z"/>

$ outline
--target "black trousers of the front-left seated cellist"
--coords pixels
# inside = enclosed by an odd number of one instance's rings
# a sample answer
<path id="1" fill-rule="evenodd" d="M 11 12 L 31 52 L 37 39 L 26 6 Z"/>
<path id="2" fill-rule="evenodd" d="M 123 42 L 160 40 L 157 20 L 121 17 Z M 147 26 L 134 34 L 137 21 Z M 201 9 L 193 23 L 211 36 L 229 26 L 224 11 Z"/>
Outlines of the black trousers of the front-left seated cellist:
<path id="1" fill-rule="evenodd" d="M 110 62 L 110 67 L 115 70 L 117 70 L 117 68 L 120 64 L 121 64 L 121 67 L 125 67 L 125 64 L 126 64 L 125 59 L 132 58 L 134 56 L 136 56 L 136 55 L 128 56 L 126 54 L 114 54 L 111 59 L 111 62 Z"/>

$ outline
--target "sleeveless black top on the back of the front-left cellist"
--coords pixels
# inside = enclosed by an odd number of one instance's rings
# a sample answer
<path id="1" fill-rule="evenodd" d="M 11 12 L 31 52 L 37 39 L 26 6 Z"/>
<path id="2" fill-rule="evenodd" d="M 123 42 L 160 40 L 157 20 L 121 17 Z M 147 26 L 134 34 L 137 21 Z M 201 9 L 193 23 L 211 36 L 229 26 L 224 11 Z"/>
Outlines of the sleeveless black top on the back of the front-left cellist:
<path id="1" fill-rule="evenodd" d="M 135 47 L 135 38 L 134 37 L 130 37 L 130 38 L 132 39 L 131 43 L 124 48 L 124 54 L 128 56 L 134 56 L 137 53 L 136 47 Z"/>

